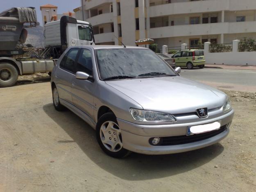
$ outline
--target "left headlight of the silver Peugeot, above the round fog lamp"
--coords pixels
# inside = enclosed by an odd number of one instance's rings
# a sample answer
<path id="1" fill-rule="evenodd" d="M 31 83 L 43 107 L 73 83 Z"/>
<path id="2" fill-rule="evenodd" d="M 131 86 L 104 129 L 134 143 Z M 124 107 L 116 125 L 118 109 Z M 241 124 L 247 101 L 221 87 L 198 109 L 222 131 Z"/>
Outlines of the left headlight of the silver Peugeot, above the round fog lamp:
<path id="1" fill-rule="evenodd" d="M 146 111 L 136 108 L 130 108 L 131 116 L 136 121 L 141 122 L 173 122 L 176 121 L 170 113 L 162 113 L 156 111 Z"/>

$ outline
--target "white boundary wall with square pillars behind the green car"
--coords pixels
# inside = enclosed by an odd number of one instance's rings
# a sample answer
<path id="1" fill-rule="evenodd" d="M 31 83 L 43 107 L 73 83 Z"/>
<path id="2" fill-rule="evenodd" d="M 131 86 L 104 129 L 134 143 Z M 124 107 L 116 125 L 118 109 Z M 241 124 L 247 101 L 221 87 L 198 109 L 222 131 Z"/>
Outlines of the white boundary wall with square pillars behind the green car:
<path id="1" fill-rule="evenodd" d="M 204 56 L 206 59 L 206 64 L 224 64 L 224 65 L 235 65 L 235 66 L 256 66 L 256 52 L 239 52 L 238 45 L 240 40 L 233 40 L 233 50 L 232 52 L 220 52 L 220 53 L 210 53 L 209 46 L 210 42 L 204 43 Z M 181 49 L 186 47 L 186 43 L 181 44 Z M 168 54 L 166 48 L 163 45 L 163 54 L 172 56 L 173 54 Z M 167 46 L 166 46 L 167 47 Z"/>

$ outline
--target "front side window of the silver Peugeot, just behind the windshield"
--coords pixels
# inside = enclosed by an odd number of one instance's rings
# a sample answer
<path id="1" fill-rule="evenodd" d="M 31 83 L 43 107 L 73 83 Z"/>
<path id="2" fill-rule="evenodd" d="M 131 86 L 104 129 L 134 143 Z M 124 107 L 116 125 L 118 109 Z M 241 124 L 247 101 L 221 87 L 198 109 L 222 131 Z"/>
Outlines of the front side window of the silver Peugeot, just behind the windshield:
<path id="1" fill-rule="evenodd" d="M 86 72 L 88 75 L 93 75 L 93 62 L 90 50 L 81 50 L 77 60 L 76 71 Z"/>

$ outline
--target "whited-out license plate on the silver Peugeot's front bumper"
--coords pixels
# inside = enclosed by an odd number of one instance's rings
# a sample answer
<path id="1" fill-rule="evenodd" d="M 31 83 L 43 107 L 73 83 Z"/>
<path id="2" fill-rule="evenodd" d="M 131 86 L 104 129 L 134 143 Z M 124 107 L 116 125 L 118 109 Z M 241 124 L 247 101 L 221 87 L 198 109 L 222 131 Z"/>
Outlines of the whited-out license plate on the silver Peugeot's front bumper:
<path id="1" fill-rule="evenodd" d="M 203 124 L 203 125 L 188 126 L 187 136 L 200 134 L 200 133 L 207 133 L 207 132 L 218 130 L 218 129 L 220 129 L 219 122 Z"/>

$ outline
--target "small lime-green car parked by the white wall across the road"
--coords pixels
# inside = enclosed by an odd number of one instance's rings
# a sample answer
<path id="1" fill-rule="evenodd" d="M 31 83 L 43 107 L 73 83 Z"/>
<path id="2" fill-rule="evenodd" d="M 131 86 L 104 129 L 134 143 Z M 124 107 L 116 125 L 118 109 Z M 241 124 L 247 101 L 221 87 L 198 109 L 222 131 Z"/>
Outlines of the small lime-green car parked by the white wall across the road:
<path id="1" fill-rule="evenodd" d="M 180 50 L 172 58 L 174 58 L 176 66 L 187 67 L 188 69 L 193 69 L 194 67 L 204 68 L 205 65 L 203 50 Z"/>

